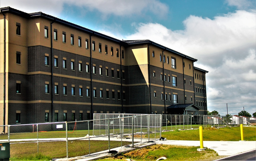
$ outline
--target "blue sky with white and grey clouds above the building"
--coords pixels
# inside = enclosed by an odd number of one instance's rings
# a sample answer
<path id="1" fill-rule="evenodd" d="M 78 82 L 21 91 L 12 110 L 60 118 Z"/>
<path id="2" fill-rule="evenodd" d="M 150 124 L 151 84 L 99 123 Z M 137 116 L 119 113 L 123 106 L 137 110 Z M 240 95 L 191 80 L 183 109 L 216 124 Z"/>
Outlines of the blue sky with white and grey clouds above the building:
<path id="1" fill-rule="evenodd" d="M 256 112 L 255 0 L 1 0 L 119 40 L 146 40 L 198 59 L 207 106 L 220 115 Z"/>

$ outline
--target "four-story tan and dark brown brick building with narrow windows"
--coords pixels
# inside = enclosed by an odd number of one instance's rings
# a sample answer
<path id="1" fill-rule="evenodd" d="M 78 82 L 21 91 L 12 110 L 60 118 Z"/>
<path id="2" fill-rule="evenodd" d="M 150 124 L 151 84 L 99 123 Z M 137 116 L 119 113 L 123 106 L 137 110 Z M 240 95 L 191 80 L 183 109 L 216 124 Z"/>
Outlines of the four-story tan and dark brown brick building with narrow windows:
<path id="1" fill-rule="evenodd" d="M 194 67 L 195 58 L 41 12 L 5 7 L 0 16 L 0 125 L 177 114 L 167 110 L 175 104 L 207 112 L 207 71 Z"/>

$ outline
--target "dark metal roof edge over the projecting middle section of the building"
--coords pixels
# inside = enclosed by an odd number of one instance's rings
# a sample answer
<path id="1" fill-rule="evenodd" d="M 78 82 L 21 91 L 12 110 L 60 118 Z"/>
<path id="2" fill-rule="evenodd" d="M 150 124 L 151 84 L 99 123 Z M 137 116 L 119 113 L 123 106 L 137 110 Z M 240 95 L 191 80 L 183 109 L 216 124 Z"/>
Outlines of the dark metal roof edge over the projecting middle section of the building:
<path id="1" fill-rule="evenodd" d="M 165 51 L 168 51 L 168 52 L 170 52 L 170 53 L 179 55 L 179 56 L 181 56 L 181 57 L 190 59 L 190 60 L 192 60 L 192 61 L 194 61 L 194 62 L 197 61 L 197 59 L 195 59 L 195 58 L 192 58 L 192 57 L 187 56 L 187 55 L 185 55 L 185 54 L 179 53 L 179 52 L 177 52 L 177 51 L 175 51 L 175 50 L 173 50 L 173 49 L 170 49 L 170 48 L 165 47 L 165 46 L 163 46 L 163 45 L 157 44 L 157 43 L 155 43 L 155 42 L 153 42 L 153 41 L 151 41 L 151 40 L 123 40 L 123 41 L 124 41 L 124 42 L 127 42 L 129 45 L 151 44 L 151 45 L 153 45 L 153 46 L 156 46 L 156 47 L 158 47 L 158 48 L 161 48 L 162 50 L 165 50 Z"/>

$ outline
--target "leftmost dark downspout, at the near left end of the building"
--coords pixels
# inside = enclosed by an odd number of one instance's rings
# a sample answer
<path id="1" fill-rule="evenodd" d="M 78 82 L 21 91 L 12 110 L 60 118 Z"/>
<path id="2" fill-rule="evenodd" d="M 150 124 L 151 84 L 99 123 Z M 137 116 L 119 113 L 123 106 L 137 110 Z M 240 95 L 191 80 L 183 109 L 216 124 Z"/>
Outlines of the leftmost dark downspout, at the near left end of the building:
<path id="1" fill-rule="evenodd" d="M 2 10 L 1 10 L 1 13 L 2 13 Z M 5 82 L 6 82 L 6 78 L 5 78 L 5 59 L 6 59 L 6 38 L 5 38 L 5 32 L 6 32 L 6 28 L 5 28 L 5 14 L 2 13 L 3 16 L 4 16 L 4 108 L 3 108 L 3 125 L 5 125 Z M 5 132 L 5 128 L 3 128 L 3 133 Z"/>

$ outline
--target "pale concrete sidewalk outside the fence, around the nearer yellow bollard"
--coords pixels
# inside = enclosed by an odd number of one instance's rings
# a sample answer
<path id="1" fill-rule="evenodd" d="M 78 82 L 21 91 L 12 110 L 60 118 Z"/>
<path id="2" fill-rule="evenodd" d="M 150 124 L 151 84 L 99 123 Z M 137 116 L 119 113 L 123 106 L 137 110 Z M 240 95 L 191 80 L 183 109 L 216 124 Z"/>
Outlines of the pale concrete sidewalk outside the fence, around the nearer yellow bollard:
<path id="1" fill-rule="evenodd" d="M 166 140 L 156 144 L 200 146 L 200 141 Z M 215 150 L 219 155 L 234 155 L 256 149 L 256 141 L 203 141 L 204 147 Z"/>

